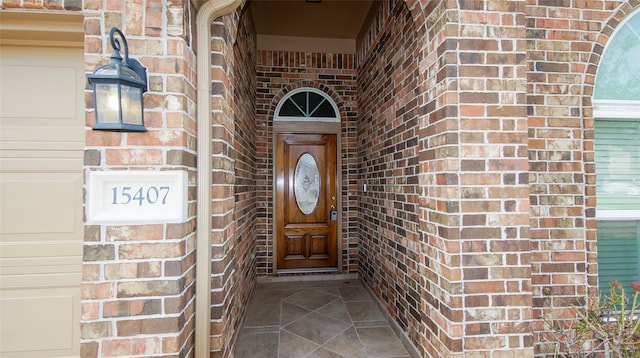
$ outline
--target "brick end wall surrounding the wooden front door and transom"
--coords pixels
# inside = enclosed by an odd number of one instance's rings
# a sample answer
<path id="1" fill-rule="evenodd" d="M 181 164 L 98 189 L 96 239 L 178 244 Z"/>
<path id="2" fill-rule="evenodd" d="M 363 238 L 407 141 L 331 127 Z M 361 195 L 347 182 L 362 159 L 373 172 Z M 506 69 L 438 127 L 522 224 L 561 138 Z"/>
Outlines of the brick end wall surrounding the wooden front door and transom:
<path id="1" fill-rule="evenodd" d="M 273 116 L 278 101 L 293 89 L 312 87 L 327 93 L 342 119 L 343 273 L 357 272 L 355 211 L 356 71 L 353 54 L 259 50 L 256 56 L 256 181 L 258 191 L 257 270 L 273 274 Z"/>

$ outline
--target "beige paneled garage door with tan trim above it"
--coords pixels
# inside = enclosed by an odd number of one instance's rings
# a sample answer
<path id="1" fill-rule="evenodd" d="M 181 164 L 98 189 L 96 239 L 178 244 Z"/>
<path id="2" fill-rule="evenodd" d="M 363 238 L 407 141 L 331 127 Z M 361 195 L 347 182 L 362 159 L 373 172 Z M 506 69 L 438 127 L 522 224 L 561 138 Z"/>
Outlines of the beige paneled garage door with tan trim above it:
<path id="1" fill-rule="evenodd" d="M 0 23 L 0 356 L 79 356 L 82 17 Z"/>

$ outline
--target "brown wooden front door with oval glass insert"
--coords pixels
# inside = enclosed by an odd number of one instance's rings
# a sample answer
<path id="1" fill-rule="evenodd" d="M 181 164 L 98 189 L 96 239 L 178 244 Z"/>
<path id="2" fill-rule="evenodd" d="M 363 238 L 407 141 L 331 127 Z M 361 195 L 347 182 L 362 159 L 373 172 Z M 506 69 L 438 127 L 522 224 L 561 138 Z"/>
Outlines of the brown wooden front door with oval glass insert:
<path id="1" fill-rule="evenodd" d="M 337 268 L 336 135 L 278 134 L 278 270 Z"/>

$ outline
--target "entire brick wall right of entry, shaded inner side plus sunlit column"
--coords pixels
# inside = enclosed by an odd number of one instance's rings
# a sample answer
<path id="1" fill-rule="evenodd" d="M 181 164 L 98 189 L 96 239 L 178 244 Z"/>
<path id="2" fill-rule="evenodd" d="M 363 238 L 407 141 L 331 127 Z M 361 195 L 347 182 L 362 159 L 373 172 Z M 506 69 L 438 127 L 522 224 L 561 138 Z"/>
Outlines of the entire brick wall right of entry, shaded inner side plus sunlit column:
<path id="1" fill-rule="evenodd" d="M 359 63 L 363 276 L 426 356 L 531 354 L 525 3 L 391 4 Z"/>

